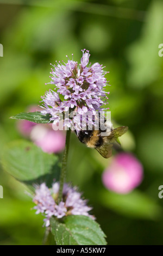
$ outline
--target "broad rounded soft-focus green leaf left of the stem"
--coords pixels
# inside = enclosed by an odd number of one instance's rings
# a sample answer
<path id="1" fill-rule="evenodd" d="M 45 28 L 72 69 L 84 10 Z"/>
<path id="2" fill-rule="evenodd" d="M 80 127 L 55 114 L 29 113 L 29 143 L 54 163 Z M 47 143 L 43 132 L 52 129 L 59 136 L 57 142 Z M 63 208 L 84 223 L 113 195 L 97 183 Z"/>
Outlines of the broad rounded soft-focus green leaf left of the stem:
<path id="1" fill-rule="evenodd" d="M 8 144 L 2 155 L 2 165 L 9 174 L 29 186 L 42 182 L 51 186 L 53 179 L 59 176 L 58 157 L 24 140 Z"/>

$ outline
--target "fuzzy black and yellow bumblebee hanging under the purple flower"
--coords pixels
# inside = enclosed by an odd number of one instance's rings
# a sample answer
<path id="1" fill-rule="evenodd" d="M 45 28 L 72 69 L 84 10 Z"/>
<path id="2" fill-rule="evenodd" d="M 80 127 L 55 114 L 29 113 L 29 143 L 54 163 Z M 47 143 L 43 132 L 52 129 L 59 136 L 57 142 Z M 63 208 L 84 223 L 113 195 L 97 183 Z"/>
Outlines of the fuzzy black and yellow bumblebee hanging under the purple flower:
<path id="1" fill-rule="evenodd" d="M 121 126 L 116 129 L 111 128 L 107 136 L 101 136 L 100 129 L 80 130 L 76 134 L 80 142 L 89 148 L 96 149 L 104 158 L 109 158 L 112 155 L 112 143 L 117 142 L 118 137 L 121 137 L 127 130 L 127 126 Z"/>

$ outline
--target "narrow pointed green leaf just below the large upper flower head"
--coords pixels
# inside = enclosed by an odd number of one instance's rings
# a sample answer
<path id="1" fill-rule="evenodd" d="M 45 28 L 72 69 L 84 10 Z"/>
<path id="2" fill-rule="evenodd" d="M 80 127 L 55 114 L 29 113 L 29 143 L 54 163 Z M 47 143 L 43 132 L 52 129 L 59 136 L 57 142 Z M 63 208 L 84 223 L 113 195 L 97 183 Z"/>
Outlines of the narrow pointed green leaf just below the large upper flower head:
<path id="1" fill-rule="evenodd" d="M 49 121 L 49 119 L 51 118 L 50 114 L 43 115 L 38 111 L 16 114 L 10 118 L 19 119 L 19 120 L 27 120 L 27 121 L 37 123 L 37 124 L 48 124 L 51 122 L 51 121 Z"/>

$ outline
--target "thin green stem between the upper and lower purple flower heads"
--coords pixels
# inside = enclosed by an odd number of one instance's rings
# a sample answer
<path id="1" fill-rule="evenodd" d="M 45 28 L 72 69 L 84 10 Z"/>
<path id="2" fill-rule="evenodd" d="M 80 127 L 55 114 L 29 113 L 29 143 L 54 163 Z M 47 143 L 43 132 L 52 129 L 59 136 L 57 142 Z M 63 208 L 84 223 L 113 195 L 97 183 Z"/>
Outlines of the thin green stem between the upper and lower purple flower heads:
<path id="1" fill-rule="evenodd" d="M 61 167 L 61 172 L 60 172 L 58 203 L 61 202 L 61 199 L 62 199 L 62 191 L 63 191 L 64 182 L 65 182 L 65 178 L 66 178 L 67 156 L 68 156 L 68 149 L 69 149 L 69 144 L 70 144 L 70 136 L 71 136 L 71 130 L 69 129 L 69 130 L 67 130 L 67 133 L 66 133 L 66 145 L 65 145 L 64 154 L 62 156 L 62 167 Z"/>

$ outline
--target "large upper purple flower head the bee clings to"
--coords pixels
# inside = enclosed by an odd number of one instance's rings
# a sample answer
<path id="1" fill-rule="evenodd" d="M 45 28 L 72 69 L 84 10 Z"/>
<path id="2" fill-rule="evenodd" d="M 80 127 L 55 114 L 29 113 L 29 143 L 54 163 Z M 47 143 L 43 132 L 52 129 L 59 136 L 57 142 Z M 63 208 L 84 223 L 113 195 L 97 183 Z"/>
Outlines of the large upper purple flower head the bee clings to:
<path id="1" fill-rule="evenodd" d="M 50 120 L 54 120 L 55 123 L 60 120 L 60 114 L 65 117 L 66 112 L 74 112 L 76 115 L 91 113 L 95 116 L 97 112 L 103 110 L 102 105 L 108 99 L 104 88 L 107 85 L 104 67 L 99 63 L 87 66 L 90 53 L 85 49 L 82 52 L 79 65 L 74 60 L 68 59 L 67 63 L 59 62 L 54 65 L 51 71 L 51 84 L 55 85 L 56 92 L 49 90 L 42 97 L 41 113 L 51 114 Z M 70 127 L 73 124 L 79 129 L 73 117 L 68 115 L 68 119 L 69 121 L 65 122 L 64 118 L 63 126 Z M 92 119 L 92 124 L 94 122 L 95 120 Z"/>

